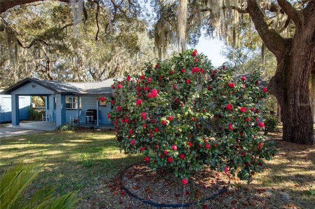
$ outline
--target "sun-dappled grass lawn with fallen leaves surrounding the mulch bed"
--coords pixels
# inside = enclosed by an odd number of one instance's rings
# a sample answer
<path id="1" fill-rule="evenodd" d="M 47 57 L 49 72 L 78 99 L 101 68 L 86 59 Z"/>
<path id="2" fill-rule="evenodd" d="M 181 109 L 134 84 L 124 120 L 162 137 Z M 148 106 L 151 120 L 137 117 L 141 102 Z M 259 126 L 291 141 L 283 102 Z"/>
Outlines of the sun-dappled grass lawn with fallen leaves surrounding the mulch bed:
<path id="1" fill-rule="evenodd" d="M 251 184 L 231 178 L 227 192 L 187 208 L 314 209 L 315 146 L 287 143 L 281 140 L 280 135 L 281 133 L 269 134 L 275 140 L 279 155 L 268 161 L 266 171 L 256 174 Z M 126 192 L 122 194 L 119 185 L 121 172 L 132 164 L 142 162 L 143 156 L 121 154 L 114 131 L 47 131 L 0 138 L 1 173 L 13 163 L 36 160 L 45 163 L 45 166 L 26 196 L 36 188 L 52 184 L 58 186 L 56 195 L 78 189 L 78 197 L 82 198 L 78 209 L 155 208 L 130 197 Z M 207 173 L 199 175 L 204 180 L 203 183 L 208 181 L 206 175 Z M 143 188 L 144 191 L 149 193 L 150 187 L 151 196 L 164 195 L 161 197 L 164 200 L 171 198 L 169 195 L 172 193 L 166 192 L 167 187 L 156 187 L 151 193 L 155 180 L 150 180 L 146 184 L 143 184 L 145 180 L 141 181 L 141 185 L 146 187 Z M 172 181 L 176 183 L 176 180 Z M 187 192 L 181 188 L 181 183 L 178 185 L 179 191 Z M 138 190 L 142 191 L 141 188 Z M 173 190 L 178 188 L 173 187 Z M 146 198 L 150 198 L 150 195 L 144 194 Z M 182 194 L 176 193 L 178 196 Z"/>

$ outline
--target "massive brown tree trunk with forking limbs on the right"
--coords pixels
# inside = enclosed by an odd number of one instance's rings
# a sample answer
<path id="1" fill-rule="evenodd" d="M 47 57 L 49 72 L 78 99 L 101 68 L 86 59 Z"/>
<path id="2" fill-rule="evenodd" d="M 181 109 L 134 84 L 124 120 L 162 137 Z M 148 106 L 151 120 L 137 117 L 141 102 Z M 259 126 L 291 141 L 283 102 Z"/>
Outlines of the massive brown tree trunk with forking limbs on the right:
<path id="1" fill-rule="evenodd" d="M 252 21 L 266 47 L 277 58 L 277 69 L 268 90 L 281 106 L 283 139 L 297 144 L 314 144 L 313 116 L 309 79 L 315 71 L 315 3 L 310 1 L 297 11 L 280 1 L 284 12 L 294 21 L 293 38 L 285 39 L 268 27 L 258 0 L 248 0 Z"/>

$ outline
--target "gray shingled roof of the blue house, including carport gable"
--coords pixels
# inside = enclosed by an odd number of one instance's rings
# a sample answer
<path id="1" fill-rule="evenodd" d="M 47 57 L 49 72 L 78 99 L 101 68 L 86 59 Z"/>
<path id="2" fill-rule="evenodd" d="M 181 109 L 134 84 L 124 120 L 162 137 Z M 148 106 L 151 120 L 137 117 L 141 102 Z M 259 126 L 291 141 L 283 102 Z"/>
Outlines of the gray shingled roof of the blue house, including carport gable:
<path id="1" fill-rule="evenodd" d="M 1 94 L 11 94 L 12 91 L 19 89 L 30 82 L 33 82 L 55 92 L 55 94 L 103 94 L 111 96 L 111 85 L 114 84 L 115 79 L 121 80 L 122 78 L 109 78 L 100 82 L 64 82 L 37 78 L 25 78 L 24 80 L 17 82 L 15 85 L 12 85 L 9 88 L 3 90 Z"/>

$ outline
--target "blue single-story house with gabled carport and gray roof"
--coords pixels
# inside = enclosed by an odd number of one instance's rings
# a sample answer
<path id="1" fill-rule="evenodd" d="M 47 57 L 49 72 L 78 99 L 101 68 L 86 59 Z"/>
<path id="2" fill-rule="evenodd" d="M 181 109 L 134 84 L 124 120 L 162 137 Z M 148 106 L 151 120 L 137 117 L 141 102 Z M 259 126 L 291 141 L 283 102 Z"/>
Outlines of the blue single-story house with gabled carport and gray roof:
<path id="1" fill-rule="evenodd" d="M 11 95 L 12 125 L 19 125 L 22 118 L 19 112 L 21 96 L 45 97 L 45 110 L 53 110 L 51 118 L 56 126 L 73 122 L 73 115 L 79 116 L 81 123 L 111 124 L 107 113 L 111 110 L 110 100 L 113 97 L 111 85 L 114 79 L 101 82 L 63 82 L 37 78 L 25 78 L 15 85 L 3 90 L 1 94 Z M 96 100 L 97 97 L 107 98 L 107 102 Z M 71 118 L 72 117 L 72 118 Z"/>

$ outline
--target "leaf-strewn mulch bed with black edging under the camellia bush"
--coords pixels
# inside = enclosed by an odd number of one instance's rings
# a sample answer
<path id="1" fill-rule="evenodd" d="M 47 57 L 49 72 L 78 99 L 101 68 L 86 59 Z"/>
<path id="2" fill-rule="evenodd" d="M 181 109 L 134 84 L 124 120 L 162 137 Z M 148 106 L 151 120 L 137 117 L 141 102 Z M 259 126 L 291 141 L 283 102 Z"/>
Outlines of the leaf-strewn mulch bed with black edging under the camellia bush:
<path id="1" fill-rule="evenodd" d="M 130 166 L 121 178 L 124 190 L 136 198 L 156 207 L 182 207 L 218 196 L 229 185 L 225 172 L 215 172 L 209 167 L 201 169 L 183 185 L 165 168 L 153 171 L 148 163 Z"/>

